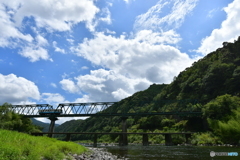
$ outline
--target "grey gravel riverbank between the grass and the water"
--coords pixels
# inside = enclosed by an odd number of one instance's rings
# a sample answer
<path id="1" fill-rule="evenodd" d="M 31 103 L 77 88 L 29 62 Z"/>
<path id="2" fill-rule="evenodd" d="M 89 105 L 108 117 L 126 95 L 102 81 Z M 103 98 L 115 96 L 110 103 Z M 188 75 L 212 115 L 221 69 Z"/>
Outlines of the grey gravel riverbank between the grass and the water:
<path id="1" fill-rule="evenodd" d="M 90 152 L 81 155 L 73 154 L 73 160 L 127 160 L 127 158 L 120 158 L 107 152 L 105 148 L 87 147 Z"/>

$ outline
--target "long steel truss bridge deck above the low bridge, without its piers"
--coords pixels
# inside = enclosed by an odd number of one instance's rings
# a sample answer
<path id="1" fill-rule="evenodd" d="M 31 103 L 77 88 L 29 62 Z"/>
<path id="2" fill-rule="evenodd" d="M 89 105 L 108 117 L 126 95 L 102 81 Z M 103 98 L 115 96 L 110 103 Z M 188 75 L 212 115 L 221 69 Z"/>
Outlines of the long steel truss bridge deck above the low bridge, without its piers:
<path id="1" fill-rule="evenodd" d="M 166 103 L 167 102 L 167 103 Z M 165 104 L 172 104 L 178 102 L 186 105 L 190 101 L 165 101 Z M 145 103 L 145 102 L 143 102 Z M 191 104 L 196 104 L 192 101 Z M 29 105 L 12 105 L 11 110 L 15 113 L 25 115 L 26 117 L 88 117 L 88 116 L 149 116 L 149 115 L 201 115 L 201 110 L 175 110 L 175 111 L 156 111 L 153 109 L 141 110 L 141 105 L 131 108 L 120 107 L 123 104 L 119 102 L 93 102 L 93 103 L 60 103 L 56 108 L 49 104 L 29 104 Z M 41 110 L 62 110 L 61 114 L 39 114 Z"/>

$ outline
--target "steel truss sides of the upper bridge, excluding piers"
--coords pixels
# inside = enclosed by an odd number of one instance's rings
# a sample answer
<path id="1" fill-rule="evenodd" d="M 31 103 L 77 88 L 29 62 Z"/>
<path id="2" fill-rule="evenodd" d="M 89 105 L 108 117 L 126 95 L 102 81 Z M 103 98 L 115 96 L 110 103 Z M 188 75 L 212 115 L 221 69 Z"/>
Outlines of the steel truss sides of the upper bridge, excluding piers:
<path id="1" fill-rule="evenodd" d="M 61 110 L 55 117 L 200 115 L 201 107 L 196 104 L 196 100 L 60 103 L 55 108 L 49 104 L 12 105 L 11 110 L 28 117 L 54 116 L 54 113 L 44 114 L 44 110 Z"/>

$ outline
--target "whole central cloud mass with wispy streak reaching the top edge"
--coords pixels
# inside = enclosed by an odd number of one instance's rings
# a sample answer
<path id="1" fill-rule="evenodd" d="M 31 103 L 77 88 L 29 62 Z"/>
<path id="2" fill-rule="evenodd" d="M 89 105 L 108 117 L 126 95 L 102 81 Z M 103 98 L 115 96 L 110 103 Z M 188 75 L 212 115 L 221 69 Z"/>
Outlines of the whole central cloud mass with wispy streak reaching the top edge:
<path id="1" fill-rule="evenodd" d="M 173 45 L 181 40 L 175 29 L 196 3 L 197 0 L 159 1 L 136 18 L 134 34 L 116 36 L 95 32 L 94 38 L 85 38 L 75 53 L 105 69 L 74 78 L 71 83 L 87 93 L 76 102 L 117 101 L 152 83 L 170 83 L 194 61 Z M 166 6 L 172 10 L 161 16 L 161 9 Z M 166 29 L 159 30 L 159 27 Z M 70 86 L 65 86 L 65 90 L 70 92 Z"/>

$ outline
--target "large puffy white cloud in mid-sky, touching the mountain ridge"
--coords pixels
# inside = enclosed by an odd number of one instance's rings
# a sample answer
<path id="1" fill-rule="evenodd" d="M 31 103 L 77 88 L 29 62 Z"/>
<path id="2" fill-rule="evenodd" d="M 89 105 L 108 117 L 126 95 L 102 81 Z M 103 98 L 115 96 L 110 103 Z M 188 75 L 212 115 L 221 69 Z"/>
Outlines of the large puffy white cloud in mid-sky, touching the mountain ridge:
<path id="1" fill-rule="evenodd" d="M 149 36 L 137 34 L 133 39 L 127 39 L 123 35 L 113 37 L 97 33 L 94 39 L 85 39 L 76 54 L 95 65 L 130 78 L 148 78 L 152 83 L 169 83 L 173 76 L 193 61 L 178 49 L 161 44 L 164 41 L 164 36 L 157 33 Z"/>

